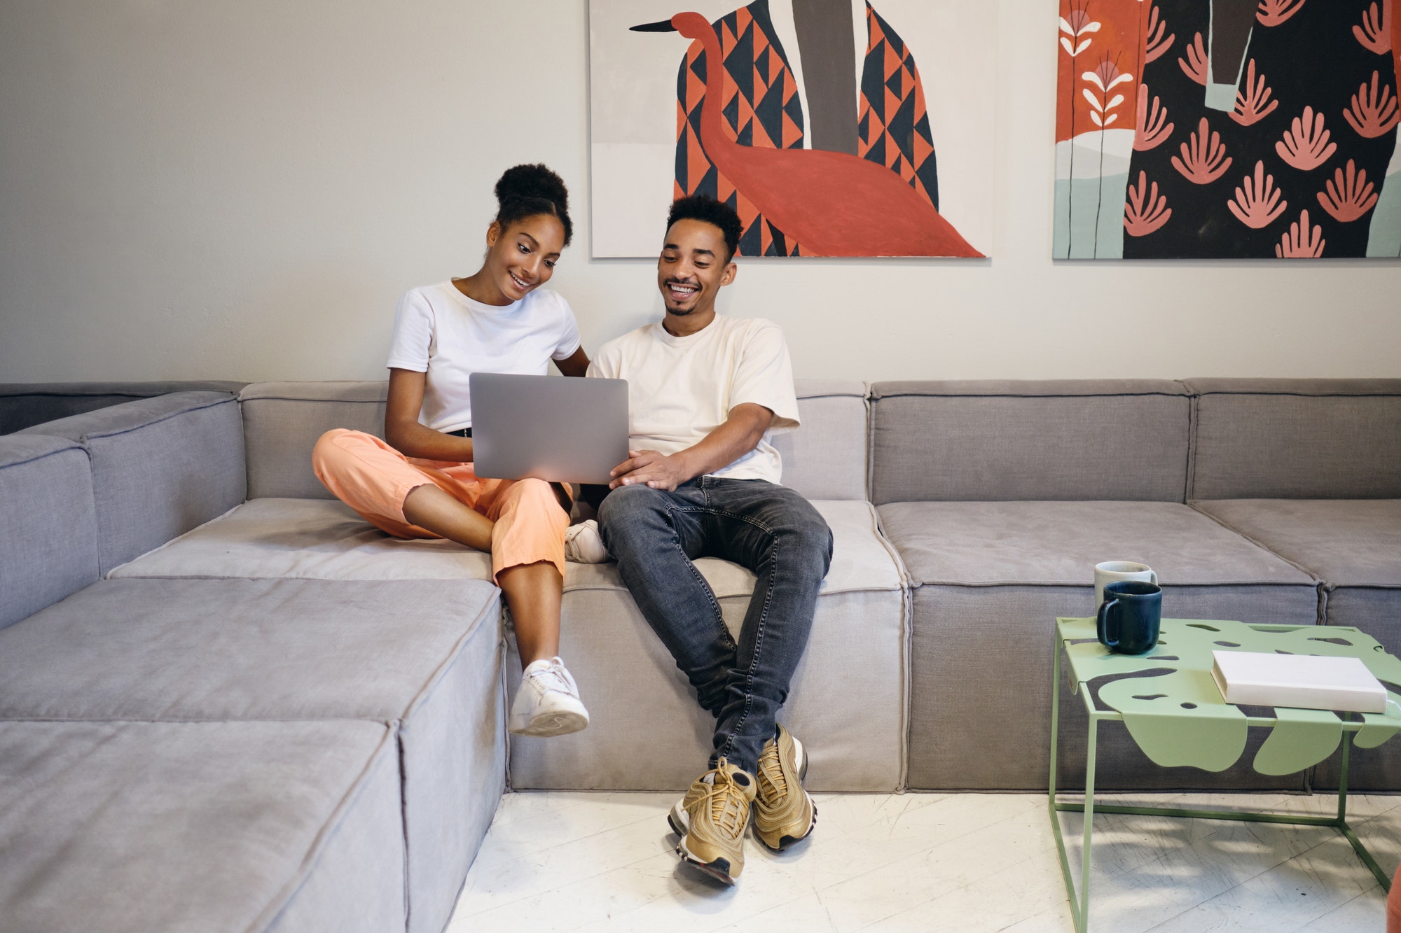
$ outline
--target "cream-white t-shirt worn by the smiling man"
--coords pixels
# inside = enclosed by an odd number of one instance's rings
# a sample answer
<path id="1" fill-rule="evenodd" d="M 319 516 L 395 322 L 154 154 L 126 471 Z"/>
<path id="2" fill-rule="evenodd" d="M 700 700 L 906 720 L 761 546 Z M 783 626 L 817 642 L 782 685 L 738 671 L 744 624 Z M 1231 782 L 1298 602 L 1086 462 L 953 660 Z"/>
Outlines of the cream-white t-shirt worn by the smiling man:
<path id="1" fill-rule="evenodd" d="M 633 450 L 675 454 L 723 424 L 736 405 L 762 405 L 773 423 L 758 447 L 710 475 L 780 482 L 783 461 L 769 440 L 799 417 L 793 363 L 772 321 L 717 314 L 681 338 L 649 324 L 600 347 L 588 375 L 628 380 Z"/>

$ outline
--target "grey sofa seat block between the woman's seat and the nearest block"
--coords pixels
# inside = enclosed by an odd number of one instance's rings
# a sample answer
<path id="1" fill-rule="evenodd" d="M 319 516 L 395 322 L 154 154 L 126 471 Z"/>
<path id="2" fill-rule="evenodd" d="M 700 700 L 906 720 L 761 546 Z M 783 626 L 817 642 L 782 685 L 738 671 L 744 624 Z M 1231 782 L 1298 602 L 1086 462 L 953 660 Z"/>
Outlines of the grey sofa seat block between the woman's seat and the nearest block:
<path id="1" fill-rule="evenodd" d="M 504 783 L 479 580 L 102 580 L 0 630 L 0 719 L 399 720 L 410 929 L 443 929 Z"/>

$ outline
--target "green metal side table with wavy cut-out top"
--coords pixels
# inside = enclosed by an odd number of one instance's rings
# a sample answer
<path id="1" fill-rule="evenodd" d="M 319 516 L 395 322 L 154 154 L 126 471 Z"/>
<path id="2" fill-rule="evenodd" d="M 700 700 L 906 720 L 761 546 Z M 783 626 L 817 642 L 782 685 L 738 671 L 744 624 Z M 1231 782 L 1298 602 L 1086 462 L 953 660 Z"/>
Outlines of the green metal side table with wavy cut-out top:
<path id="1" fill-rule="evenodd" d="M 1401 660 L 1387 654 L 1369 635 L 1355 628 L 1324 625 L 1244 625 L 1210 619 L 1163 619 L 1157 646 L 1147 654 L 1114 654 L 1096 637 L 1094 619 L 1056 619 L 1055 668 L 1051 692 L 1051 786 L 1048 804 L 1061 871 L 1070 898 L 1075 929 L 1084 933 L 1090 919 L 1090 846 L 1094 827 L 1094 747 L 1100 723 L 1121 721 L 1153 763 L 1164 768 L 1195 766 L 1224 770 L 1245 751 L 1251 727 L 1269 728 L 1252 762 L 1262 775 L 1290 775 L 1330 758 L 1342 745 L 1338 778 L 1338 815 L 1307 817 L 1168 807 L 1101 806 L 1100 813 L 1240 820 L 1299 827 L 1332 827 L 1342 832 L 1383 890 L 1391 878 L 1348 825 L 1348 754 L 1352 745 L 1376 748 L 1401 731 L 1401 696 L 1388 692 L 1387 713 L 1331 713 L 1314 709 L 1275 707 L 1271 716 L 1247 716 L 1222 699 L 1212 679 L 1212 651 L 1279 651 L 1360 658 L 1391 685 L 1401 686 Z M 1061 714 L 1061 656 L 1069 661 L 1070 692 L 1080 693 L 1090 717 L 1084 752 L 1084 800 L 1056 800 L 1056 730 Z M 1140 674 L 1104 684 L 1097 705 L 1091 681 L 1108 675 Z M 1105 709 L 1101 709 L 1104 706 Z M 1351 735 L 1351 740 L 1345 740 Z M 1084 814 L 1084 848 L 1080 891 L 1076 895 L 1070 859 L 1061 835 L 1062 811 Z"/>

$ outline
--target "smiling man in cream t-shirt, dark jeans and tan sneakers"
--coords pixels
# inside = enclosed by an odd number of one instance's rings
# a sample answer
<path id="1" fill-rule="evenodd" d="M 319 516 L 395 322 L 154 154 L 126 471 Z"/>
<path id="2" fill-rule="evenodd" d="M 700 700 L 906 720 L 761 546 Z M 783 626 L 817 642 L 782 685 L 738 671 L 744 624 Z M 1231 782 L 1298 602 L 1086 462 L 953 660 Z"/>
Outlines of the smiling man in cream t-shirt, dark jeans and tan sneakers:
<path id="1" fill-rule="evenodd" d="M 657 286 L 660 322 L 598 350 L 588 375 L 628 380 L 629 459 L 598 509 L 602 541 L 637 607 L 700 706 L 716 717 L 709 770 L 671 810 L 677 853 L 734 884 L 754 808 L 775 850 L 817 820 L 803 790 L 807 755 L 778 724 L 813 626 L 832 532 L 779 485 L 773 431 L 799 424 L 793 366 L 769 321 L 715 312 L 734 282 L 740 217 L 709 198 L 682 198 L 667 217 Z M 738 644 L 692 559 L 733 560 L 758 576 Z"/>

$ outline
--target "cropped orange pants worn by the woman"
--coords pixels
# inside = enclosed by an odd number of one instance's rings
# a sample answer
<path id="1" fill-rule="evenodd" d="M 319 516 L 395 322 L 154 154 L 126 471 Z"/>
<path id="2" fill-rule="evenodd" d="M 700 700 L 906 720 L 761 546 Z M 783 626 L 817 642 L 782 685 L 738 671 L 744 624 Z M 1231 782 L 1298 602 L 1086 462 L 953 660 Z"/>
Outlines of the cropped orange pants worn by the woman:
<path id="1" fill-rule="evenodd" d="M 472 464 L 405 457 L 373 434 L 343 427 L 311 451 L 317 479 L 361 518 L 395 538 L 441 538 L 403 517 L 410 492 L 433 483 L 486 516 L 492 528 L 492 577 L 528 563 L 553 563 L 565 576 L 566 513 L 544 479 L 478 479 Z"/>

